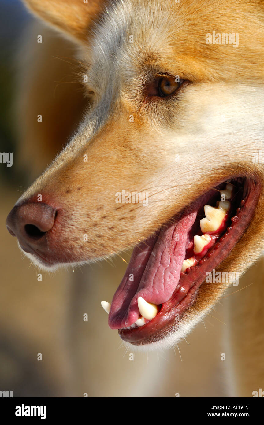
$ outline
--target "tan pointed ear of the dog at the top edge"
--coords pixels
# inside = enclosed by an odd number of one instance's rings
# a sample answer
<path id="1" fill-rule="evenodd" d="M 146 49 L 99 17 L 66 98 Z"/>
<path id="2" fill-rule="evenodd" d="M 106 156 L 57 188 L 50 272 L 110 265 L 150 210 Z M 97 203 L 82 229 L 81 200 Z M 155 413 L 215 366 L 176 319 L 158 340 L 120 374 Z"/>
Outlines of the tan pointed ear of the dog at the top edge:
<path id="1" fill-rule="evenodd" d="M 65 34 L 85 41 L 89 27 L 107 0 L 24 0 L 26 6 Z"/>

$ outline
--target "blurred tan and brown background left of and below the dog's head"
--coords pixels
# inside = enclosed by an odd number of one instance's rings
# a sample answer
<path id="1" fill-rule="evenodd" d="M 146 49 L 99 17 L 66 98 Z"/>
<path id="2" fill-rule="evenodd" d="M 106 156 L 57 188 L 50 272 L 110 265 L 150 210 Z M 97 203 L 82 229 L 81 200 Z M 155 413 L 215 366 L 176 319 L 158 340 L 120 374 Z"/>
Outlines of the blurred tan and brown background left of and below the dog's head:
<path id="1" fill-rule="evenodd" d="M 13 152 L 12 167 L 0 164 L 0 390 L 13 397 L 227 397 L 225 299 L 175 351 L 126 351 L 100 305 L 111 301 L 126 264 L 115 258 L 114 266 L 48 274 L 23 258 L 7 232 L 6 216 L 68 141 L 85 100 L 71 83 L 73 45 L 20 1 L 0 0 L 0 16 L 0 151 Z M 36 116 L 44 112 L 40 131 Z"/>

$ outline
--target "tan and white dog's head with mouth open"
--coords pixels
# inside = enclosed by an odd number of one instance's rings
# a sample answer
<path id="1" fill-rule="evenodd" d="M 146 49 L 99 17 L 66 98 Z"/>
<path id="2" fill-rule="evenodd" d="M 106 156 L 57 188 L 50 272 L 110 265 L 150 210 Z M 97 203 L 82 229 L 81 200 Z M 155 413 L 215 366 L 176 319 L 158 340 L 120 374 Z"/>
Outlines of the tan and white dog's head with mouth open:
<path id="1" fill-rule="evenodd" d="M 264 7 L 26 3 L 77 41 L 90 104 L 9 231 L 48 269 L 135 246 L 109 325 L 173 344 L 261 255 Z"/>

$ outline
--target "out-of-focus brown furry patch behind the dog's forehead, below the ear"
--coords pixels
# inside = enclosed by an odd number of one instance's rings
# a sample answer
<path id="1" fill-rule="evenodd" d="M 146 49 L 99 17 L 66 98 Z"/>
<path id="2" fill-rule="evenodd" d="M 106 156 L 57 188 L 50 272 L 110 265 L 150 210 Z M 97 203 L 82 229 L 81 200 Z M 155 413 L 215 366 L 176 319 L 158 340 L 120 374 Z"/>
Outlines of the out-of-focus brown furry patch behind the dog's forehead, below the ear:
<path id="1" fill-rule="evenodd" d="M 43 37 L 41 44 L 36 42 L 39 34 Z M 20 162 L 24 165 L 38 146 L 30 167 L 35 178 L 77 130 L 87 99 L 77 79 L 80 65 L 74 58 L 76 44 L 66 42 L 57 31 L 40 22 L 27 28 L 24 40 L 26 48 L 21 49 L 17 58 L 20 69 L 16 84 L 16 130 Z M 36 119 L 38 114 L 43 116 L 41 124 Z"/>

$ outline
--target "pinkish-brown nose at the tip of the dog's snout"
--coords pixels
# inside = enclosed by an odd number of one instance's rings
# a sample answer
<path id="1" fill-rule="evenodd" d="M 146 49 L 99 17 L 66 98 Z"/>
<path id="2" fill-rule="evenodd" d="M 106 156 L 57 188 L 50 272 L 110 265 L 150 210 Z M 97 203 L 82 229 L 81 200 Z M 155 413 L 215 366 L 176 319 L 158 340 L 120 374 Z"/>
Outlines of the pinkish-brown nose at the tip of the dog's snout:
<path id="1" fill-rule="evenodd" d="M 16 236 L 26 252 L 30 248 L 45 249 L 45 234 L 54 225 L 56 209 L 41 202 L 25 202 L 15 206 L 6 219 L 6 227 L 12 236 Z"/>

